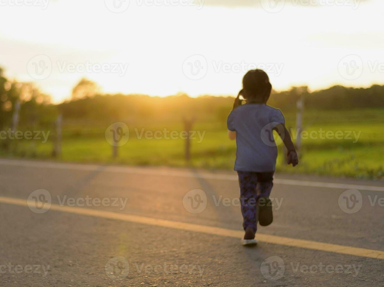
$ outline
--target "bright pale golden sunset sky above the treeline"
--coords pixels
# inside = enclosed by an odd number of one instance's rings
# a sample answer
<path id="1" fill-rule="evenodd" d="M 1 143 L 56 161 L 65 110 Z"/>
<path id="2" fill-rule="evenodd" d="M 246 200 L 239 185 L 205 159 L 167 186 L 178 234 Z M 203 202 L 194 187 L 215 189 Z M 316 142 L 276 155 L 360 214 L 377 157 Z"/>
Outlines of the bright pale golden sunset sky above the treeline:
<path id="1" fill-rule="evenodd" d="M 195 2 L 194 2 L 195 1 Z M 382 0 L 0 0 L 0 66 L 54 102 L 82 77 L 108 93 L 237 94 L 384 82 Z"/>

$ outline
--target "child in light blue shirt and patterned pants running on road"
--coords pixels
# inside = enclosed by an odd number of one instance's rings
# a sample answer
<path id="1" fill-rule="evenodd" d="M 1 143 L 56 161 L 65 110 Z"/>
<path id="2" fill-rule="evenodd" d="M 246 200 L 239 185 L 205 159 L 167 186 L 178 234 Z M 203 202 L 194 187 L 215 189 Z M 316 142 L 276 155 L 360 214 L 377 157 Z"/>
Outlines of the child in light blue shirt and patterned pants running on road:
<path id="1" fill-rule="evenodd" d="M 273 186 L 277 147 L 273 138 L 276 130 L 287 150 L 287 163 L 298 164 L 298 156 L 291 136 L 285 127 L 285 118 L 279 109 L 266 104 L 272 86 L 263 70 L 250 70 L 243 78 L 233 110 L 227 119 L 228 136 L 236 139 L 236 162 L 240 184 L 240 202 L 245 235 L 242 245 L 257 244 L 257 221 L 270 225 L 273 220 L 269 198 Z M 240 95 L 246 100 L 242 105 Z"/>

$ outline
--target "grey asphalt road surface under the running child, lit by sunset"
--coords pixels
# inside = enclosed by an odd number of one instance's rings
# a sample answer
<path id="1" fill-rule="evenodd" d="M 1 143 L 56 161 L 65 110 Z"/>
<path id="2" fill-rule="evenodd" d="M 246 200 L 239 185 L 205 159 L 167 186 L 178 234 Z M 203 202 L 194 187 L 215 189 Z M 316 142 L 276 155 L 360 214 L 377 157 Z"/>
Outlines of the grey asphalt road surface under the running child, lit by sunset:
<path id="1" fill-rule="evenodd" d="M 0 160 L 0 285 L 384 285 L 384 260 L 357 256 L 352 248 L 384 251 L 383 182 L 276 175 L 297 184 L 275 184 L 274 222 L 259 227 L 258 233 L 313 244 L 292 247 L 282 240 L 243 247 L 240 237 L 209 231 L 211 227 L 233 234 L 242 230 L 234 175 Z M 339 198 L 343 201 L 347 189 L 337 184 L 377 190 L 359 189 L 357 199 L 346 194 L 357 200 L 349 206 L 354 208 L 346 209 Z M 41 189 L 49 192 L 50 209 Z M 7 199 L 25 204 L 5 203 Z M 37 205 L 31 204 L 33 200 Z M 73 209 L 61 208 L 65 206 Z M 71 211 L 76 208 L 101 215 Z M 116 218 L 104 218 L 106 212 L 114 212 Z M 122 215 L 138 219 L 120 220 Z M 142 217 L 144 223 L 139 222 Z M 175 226 L 198 225 L 196 231 L 180 230 L 157 219 Z M 208 232 L 200 232 L 202 226 Z M 349 254 L 316 250 L 318 242 L 343 245 Z"/>

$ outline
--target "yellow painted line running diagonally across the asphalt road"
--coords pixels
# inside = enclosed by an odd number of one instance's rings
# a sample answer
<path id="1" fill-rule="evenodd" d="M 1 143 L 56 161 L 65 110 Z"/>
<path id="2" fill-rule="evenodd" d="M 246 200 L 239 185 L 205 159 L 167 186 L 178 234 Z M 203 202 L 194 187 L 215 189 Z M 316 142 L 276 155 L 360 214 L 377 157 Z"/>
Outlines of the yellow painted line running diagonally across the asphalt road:
<path id="1" fill-rule="evenodd" d="M 11 197 L 0 196 L 0 202 L 5 204 L 28 206 L 27 200 L 11 198 Z M 31 201 L 29 203 L 32 206 L 35 205 L 35 202 Z M 154 225 L 154 226 L 167 227 L 167 228 L 173 228 L 173 229 L 179 229 L 179 230 L 187 230 L 192 232 L 200 232 L 200 233 L 219 235 L 219 236 L 225 236 L 225 237 L 234 237 L 238 239 L 240 239 L 244 235 L 244 232 L 240 230 L 212 227 L 212 226 L 200 225 L 200 224 L 191 224 L 186 222 L 157 219 L 152 217 L 145 217 L 145 216 L 138 216 L 138 215 L 131 215 L 131 214 L 121 214 L 121 213 L 110 212 L 106 210 L 61 206 L 58 204 L 51 204 L 50 209 L 61 211 L 61 212 L 68 212 L 72 214 L 88 215 L 93 217 L 100 217 L 100 218 L 114 219 L 114 220 L 122 220 L 126 222 Z M 347 255 L 361 256 L 361 257 L 384 259 L 384 251 L 380 251 L 380 250 L 365 249 L 365 248 L 344 246 L 344 245 L 338 245 L 338 244 L 329 244 L 329 243 L 323 243 L 323 242 L 317 242 L 317 241 L 311 241 L 311 240 L 302 240 L 302 239 L 295 239 L 295 238 L 281 237 L 276 235 L 268 235 L 268 234 L 260 234 L 260 233 L 257 234 L 257 239 L 259 242 L 265 242 L 265 243 L 271 243 L 271 244 L 299 247 L 299 248 L 326 251 L 326 252 L 334 252 L 339 254 L 347 254 Z"/>

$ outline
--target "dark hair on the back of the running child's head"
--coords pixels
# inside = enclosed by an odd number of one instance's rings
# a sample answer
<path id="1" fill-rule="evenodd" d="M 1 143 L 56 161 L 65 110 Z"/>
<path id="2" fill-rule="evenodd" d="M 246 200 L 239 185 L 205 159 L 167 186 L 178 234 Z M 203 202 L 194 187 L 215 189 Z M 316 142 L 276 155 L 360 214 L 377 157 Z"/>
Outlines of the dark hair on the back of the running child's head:
<path id="1" fill-rule="evenodd" d="M 248 101 L 266 103 L 271 95 L 272 85 L 263 70 L 250 70 L 243 77 L 243 89 L 239 95 L 244 96 L 244 90 Z"/>

